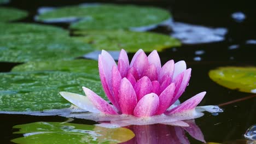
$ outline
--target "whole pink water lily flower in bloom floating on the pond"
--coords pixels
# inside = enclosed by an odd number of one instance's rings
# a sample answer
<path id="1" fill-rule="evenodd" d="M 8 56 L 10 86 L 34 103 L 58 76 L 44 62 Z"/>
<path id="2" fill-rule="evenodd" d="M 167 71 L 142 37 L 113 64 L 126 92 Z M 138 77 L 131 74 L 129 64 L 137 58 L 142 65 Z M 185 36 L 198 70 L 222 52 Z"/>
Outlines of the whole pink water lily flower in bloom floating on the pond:
<path id="1" fill-rule="evenodd" d="M 121 50 L 118 64 L 107 51 L 102 50 L 98 57 L 98 68 L 102 87 L 109 104 L 89 88 L 83 87 L 86 97 L 78 94 L 60 92 L 62 97 L 81 109 L 92 113 L 104 113 L 104 117 L 94 115 L 84 117 L 95 121 L 130 119 L 123 121 L 127 125 L 140 124 L 146 117 L 152 123 L 172 123 L 184 119 L 201 117 L 201 111 L 221 112 L 217 106 L 195 107 L 206 92 L 196 94 L 184 103 L 178 105 L 185 88 L 188 86 L 191 69 L 187 69 L 184 61 L 166 62 L 161 67 L 158 52 L 154 50 L 149 56 L 143 50 L 138 50 L 131 63 L 125 50 Z M 121 118 L 122 116 L 125 116 Z M 73 115 L 70 117 L 82 117 Z M 137 119 L 135 121 L 135 119 Z M 153 120 L 154 119 L 154 120 Z M 120 123 L 120 122 L 119 122 Z M 120 124 L 124 126 L 123 124 Z"/>

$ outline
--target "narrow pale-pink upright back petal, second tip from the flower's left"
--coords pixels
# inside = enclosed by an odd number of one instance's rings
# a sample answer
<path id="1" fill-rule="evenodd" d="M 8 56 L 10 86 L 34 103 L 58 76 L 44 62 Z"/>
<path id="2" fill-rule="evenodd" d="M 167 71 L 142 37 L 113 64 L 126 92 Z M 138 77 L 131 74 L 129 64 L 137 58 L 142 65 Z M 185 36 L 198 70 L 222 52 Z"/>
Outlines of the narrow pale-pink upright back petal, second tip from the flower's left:
<path id="1" fill-rule="evenodd" d="M 128 69 L 129 69 L 129 59 L 126 51 L 122 49 L 118 58 L 118 70 L 122 78 L 127 75 Z"/>

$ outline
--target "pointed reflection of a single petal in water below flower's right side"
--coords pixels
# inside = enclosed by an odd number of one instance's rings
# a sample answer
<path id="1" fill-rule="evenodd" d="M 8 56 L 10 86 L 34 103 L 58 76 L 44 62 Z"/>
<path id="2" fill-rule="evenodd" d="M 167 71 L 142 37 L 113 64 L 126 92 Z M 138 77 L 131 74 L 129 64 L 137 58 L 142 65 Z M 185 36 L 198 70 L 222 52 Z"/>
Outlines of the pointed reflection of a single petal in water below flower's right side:
<path id="1" fill-rule="evenodd" d="M 203 137 L 201 129 L 196 125 L 194 119 L 186 121 L 189 124 L 189 127 L 184 127 L 188 131 L 189 135 L 194 137 L 196 140 L 206 143 L 205 138 Z"/>

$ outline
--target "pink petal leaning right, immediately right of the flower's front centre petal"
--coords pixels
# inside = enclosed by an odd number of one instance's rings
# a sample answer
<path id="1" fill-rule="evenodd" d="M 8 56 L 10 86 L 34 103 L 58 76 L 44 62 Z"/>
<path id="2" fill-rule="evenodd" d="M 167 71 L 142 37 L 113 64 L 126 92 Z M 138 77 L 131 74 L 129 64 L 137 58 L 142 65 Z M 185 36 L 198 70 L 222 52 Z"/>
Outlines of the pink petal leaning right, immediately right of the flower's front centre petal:
<path id="1" fill-rule="evenodd" d="M 163 91 L 159 96 L 159 107 L 156 115 L 161 115 L 170 107 L 171 101 L 173 99 L 173 94 L 175 91 L 175 83 L 171 83 L 165 91 Z"/>

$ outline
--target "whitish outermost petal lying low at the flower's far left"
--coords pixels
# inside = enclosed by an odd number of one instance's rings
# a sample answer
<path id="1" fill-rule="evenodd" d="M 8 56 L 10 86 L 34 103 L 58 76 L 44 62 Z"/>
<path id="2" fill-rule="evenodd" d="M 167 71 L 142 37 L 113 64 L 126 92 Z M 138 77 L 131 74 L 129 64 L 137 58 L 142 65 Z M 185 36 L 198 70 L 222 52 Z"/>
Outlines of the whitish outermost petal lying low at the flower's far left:
<path id="1" fill-rule="evenodd" d="M 100 111 L 91 103 L 88 97 L 84 95 L 69 93 L 69 92 L 60 92 L 60 95 L 68 100 L 70 103 L 79 107 L 80 109 L 90 111 L 92 113 L 99 113 Z"/>

